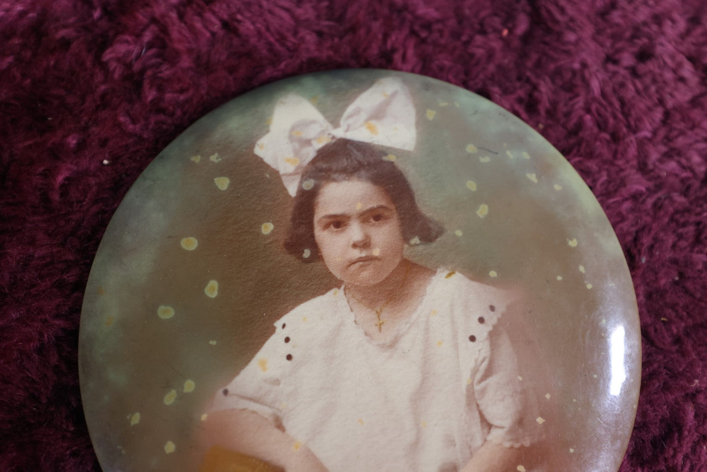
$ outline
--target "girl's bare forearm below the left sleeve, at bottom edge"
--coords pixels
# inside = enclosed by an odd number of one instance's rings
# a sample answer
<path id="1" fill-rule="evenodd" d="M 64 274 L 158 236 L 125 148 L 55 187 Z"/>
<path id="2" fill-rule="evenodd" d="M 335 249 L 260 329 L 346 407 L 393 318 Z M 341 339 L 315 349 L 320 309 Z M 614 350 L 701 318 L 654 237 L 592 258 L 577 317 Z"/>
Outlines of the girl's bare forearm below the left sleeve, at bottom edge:
<path id="1" fill-rule="evenodd" d="M 206 446 L 221 446 L 257 457 L 287 472 L 327 468 L 312 451 L 250 410 L 222 410 L 206 418 Z"/>

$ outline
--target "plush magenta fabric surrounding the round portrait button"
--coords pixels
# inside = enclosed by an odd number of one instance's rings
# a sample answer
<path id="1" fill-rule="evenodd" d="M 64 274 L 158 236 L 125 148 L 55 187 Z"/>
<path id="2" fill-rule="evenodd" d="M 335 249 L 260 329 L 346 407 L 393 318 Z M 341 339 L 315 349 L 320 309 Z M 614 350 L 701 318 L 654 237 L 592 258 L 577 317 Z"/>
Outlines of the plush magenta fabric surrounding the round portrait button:
<path id="1" fill-rule="evenodd" d="M 706 471 L 704 0 L 0 0 L 0 468 L 99 470 L 81 300 L 151 159 L 240 93 L 346 67 L 468 88 L 568 157 L 617 231 L 641 312 L 621 471 Z"/>

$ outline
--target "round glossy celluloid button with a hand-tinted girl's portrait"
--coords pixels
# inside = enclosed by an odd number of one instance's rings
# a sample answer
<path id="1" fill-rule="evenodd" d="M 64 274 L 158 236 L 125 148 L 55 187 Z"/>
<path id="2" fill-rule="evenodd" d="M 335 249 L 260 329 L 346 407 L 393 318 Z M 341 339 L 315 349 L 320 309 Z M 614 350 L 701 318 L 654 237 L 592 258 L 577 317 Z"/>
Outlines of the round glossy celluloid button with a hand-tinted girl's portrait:
<path id="1" fill-rule="evenodd" d="M 80 369 L 105 471 L 615 471 L 641 345 L 556 149 L 462 88 L 346 70 L 156 157 L 96 255 Z"/>

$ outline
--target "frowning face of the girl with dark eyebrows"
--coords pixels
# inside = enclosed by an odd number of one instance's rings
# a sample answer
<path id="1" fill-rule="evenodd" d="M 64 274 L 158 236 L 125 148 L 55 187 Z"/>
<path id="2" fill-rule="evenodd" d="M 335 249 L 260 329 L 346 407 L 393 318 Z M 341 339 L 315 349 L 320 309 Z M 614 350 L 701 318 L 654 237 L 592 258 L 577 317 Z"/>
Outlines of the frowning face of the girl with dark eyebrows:
<path id="1" fill-rule="evenodd" d="M 385 190 L 361 180 L 322 186 L 315 200 L 314 236 L 329 271 L 360 287 L 385 280 L 403 258 L 395 205 Z"/>

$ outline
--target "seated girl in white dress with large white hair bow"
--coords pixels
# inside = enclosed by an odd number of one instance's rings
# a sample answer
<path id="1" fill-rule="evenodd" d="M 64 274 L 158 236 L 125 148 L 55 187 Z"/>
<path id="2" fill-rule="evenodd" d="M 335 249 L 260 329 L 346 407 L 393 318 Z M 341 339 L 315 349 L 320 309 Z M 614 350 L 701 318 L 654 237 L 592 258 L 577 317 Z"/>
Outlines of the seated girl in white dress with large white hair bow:
<path id="1" fill-rule="evenodd" d="M 293 195 L 285 251 L 340 284 L 279 318 L 216 392 L 212 444 L 252 470 L 521 470 L 542 427 L 498 323 L 513 294 L 406 257 L 445 231 L 390 154 L 414 150 L 406 86 L 376 82 L 338 129 L 301 102 L 278 103 L 255 153 Z"/>

